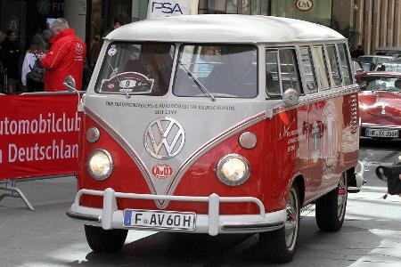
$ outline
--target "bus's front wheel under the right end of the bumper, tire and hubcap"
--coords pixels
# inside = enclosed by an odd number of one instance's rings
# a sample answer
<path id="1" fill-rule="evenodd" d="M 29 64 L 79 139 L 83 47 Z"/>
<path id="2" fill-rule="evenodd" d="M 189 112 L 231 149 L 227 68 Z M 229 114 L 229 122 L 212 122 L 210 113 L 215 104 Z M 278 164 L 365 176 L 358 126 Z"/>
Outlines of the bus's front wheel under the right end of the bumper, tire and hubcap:
<path id="1" fill-rule="evenodd" d="M 299 206 L 299 190 L 294 184 L 289 192 L 285 227 L 276 231 L 259 233 L 259 247 L 266 255 L 267 261 L 272 263 L 291 262 L 298 247 Z"/>

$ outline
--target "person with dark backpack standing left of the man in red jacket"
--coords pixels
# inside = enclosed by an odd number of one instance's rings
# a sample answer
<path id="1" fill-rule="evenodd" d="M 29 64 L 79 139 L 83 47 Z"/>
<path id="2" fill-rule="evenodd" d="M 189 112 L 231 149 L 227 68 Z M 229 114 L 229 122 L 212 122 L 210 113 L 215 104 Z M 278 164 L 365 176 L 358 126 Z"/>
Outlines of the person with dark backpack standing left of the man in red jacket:
<path id="1" fill-rule="evenodd" d="M 45 54 L 45 40 L 41 34 L 36 34 L 32 38 L 29 50 L 25 54 L 22 63 L 21 83 L 26 86 L 28 92 L 42 92 L 44 90 L 44 69 L 40 65 L 35 65 L 40 56 Z M 39 62 L 40 63 L 40 62 Z"/>

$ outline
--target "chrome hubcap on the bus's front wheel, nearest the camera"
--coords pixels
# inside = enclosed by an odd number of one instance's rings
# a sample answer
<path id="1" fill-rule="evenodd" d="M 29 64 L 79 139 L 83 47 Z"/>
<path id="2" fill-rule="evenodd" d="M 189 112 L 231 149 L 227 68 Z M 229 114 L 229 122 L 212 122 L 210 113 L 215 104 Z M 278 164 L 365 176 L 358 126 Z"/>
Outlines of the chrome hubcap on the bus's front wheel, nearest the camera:
<path id="1" fill-rule="evenodd" d="M 295 242 L 298 231 L 297 201 L 293 190 L 290 191 L 289 203 L 287 204 L 287 220 L 285 221 L 285 245 L 291 249 Z"/>

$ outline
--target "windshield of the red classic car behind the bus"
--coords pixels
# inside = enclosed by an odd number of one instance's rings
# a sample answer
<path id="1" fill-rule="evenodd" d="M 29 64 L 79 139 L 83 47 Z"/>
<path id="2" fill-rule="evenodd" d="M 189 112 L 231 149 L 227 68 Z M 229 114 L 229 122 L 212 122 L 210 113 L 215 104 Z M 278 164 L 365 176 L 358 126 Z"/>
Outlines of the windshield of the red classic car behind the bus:
<path id="1" fill-rule="evenodd" d="M 401 77 L 363 77 L 356 82 L 361 91 L 401 92 Z"/>

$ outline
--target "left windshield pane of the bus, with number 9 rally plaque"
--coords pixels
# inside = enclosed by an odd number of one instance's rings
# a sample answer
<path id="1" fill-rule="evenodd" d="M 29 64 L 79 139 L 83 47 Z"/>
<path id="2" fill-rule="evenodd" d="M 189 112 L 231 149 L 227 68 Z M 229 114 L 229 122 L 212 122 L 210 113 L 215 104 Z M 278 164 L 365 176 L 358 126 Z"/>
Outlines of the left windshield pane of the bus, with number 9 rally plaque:
<path id="1" fill-rule="evenodd" d="M 110 44 L 95 91 L 164 95 L 168 92 L 174 49 L 173 44 Z"/>

